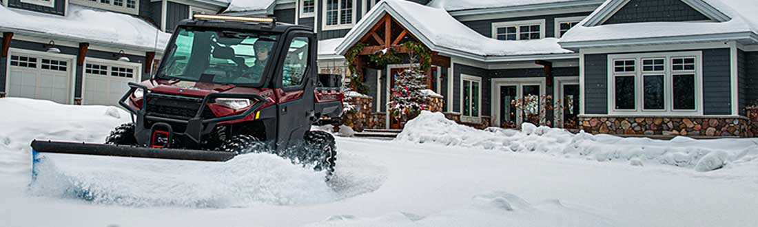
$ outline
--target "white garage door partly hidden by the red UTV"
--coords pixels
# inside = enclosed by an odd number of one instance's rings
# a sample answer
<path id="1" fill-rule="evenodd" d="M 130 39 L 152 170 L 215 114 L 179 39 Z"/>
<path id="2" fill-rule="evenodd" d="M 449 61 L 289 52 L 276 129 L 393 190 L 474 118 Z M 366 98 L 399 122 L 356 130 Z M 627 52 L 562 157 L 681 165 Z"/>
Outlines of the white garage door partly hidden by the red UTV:
<path id="1" fill-rule="evenodd" d="M 88 61 L 84 67 L 83 104 L 114 105 L 139 79 L 139 66 Z"/>

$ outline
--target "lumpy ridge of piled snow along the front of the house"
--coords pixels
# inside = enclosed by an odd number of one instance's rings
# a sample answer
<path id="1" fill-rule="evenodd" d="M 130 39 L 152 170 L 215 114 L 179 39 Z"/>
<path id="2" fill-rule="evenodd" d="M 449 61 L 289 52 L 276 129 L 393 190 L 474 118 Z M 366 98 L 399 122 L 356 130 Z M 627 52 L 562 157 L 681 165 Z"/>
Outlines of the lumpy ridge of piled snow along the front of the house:
<path id="1" fill-rule="evenodd" d="M 651 138 L 621 138 L 614 135 L 573 134 L 546 126 L 522 125 L 522 131 L 489 128 L 478 130 L 448 120 L 442 113 L 423 111 L 406 124 L 396 141 L 435 143 L 519 153 L 541 153 L 590 160 L 619 160 L 634 166 L 661 163 L 711 171 L 758 160 L 758 139 L 723 138 L 695 140 L 676 137 L 670 141 Z"/>

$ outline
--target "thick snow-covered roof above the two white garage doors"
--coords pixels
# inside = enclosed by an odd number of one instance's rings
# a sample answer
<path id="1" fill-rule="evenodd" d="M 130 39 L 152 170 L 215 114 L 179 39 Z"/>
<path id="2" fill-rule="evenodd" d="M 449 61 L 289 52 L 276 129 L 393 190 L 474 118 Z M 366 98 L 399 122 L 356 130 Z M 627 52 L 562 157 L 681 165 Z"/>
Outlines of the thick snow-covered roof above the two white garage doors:
<path id="1" fill-rule="evenodd" d="M 165 48 L 171 36 L 137 17 L 78 5 L 69 5 L 65 17 L 11 10 L 0 5 L 0 30 L 136 50 L 152 50 L 157 33 L 158 51 Z"/>

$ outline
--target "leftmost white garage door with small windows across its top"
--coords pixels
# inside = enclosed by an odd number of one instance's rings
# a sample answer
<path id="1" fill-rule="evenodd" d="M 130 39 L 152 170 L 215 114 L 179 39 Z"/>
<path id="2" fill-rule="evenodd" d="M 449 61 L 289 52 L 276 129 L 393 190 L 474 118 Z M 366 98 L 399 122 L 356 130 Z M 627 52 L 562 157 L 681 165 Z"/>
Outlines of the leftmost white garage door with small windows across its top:
<path id="1" fill-rule="evenodd" d="M 8 96 L 70 103 L 70 61 L 11 54 Z"/>

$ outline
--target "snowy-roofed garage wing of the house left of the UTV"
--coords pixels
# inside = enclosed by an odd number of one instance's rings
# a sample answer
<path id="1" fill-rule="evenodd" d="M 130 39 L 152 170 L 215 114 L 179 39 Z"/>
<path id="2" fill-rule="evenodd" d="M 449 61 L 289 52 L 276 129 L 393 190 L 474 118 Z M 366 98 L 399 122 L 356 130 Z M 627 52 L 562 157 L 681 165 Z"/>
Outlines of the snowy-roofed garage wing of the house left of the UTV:
<path id="1" fill-rule="evenodd" d="M 2 0 L 0 97 L 111 104 L 150 76 L 171 30 L 225 0 Z"/>

